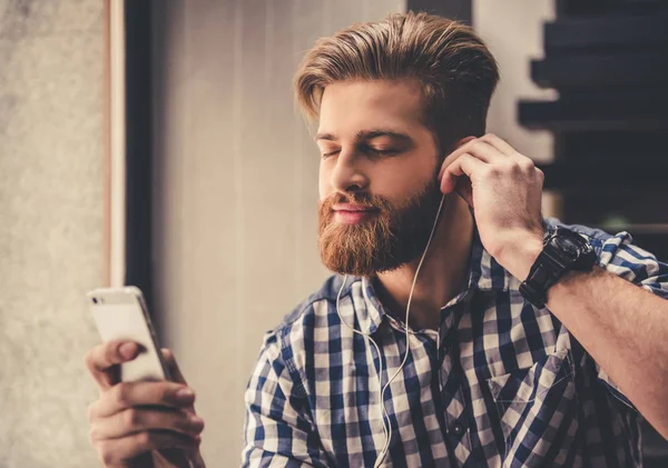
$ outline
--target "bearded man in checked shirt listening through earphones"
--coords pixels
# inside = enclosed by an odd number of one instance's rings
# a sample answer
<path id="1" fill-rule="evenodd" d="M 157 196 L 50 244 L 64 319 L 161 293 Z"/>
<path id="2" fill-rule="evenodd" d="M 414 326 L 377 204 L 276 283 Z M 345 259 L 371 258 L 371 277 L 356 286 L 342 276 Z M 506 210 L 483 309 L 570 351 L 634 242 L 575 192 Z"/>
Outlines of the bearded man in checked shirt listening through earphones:
<path id="1" fill-rule="evenodd" d="M 540 170 L 485 135 L 497 81 L 471 29 L 423 13 L 304 58 L 320 247 L 338 275 L 266 333 L 243 466 L 626 467 L 641 464 L 640 415 L 668 436 L 668 266 L 625 232 L 542 218 Z M 116 349 L 89 366 L 126 359 Z M 138 388 L 107 407 L 163 401 Z M 169 432 L 187 432 L 180 414 L 134 411 L 116 447 L 146 436 L 108 466 L 191 447 Z"/>

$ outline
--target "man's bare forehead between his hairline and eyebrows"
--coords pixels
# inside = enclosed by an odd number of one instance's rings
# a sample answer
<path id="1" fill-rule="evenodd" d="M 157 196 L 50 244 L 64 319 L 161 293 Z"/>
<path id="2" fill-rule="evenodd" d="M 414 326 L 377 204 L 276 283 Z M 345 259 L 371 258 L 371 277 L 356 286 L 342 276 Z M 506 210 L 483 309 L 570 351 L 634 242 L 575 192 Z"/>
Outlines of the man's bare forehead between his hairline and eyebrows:
<path id="1" fill-rule="evenodd" d="M 369 127 L 423 132 L 423 106 L 418 80 L 335 82 L 323 92 L 318 132 L 341 138 Z"/>

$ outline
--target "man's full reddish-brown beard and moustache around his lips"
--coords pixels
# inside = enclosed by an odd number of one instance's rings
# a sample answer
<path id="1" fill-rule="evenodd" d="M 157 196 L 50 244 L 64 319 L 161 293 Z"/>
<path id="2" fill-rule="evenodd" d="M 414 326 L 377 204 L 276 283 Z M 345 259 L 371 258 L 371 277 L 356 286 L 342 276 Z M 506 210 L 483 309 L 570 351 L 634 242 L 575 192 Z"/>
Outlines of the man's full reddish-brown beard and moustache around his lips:
<path id="1" fill-rule="evenodd" d="M 436 179 L 399 202 L 369 192 L 335 193 L 320 202 L 318 245 L 326 268 L 373 277 L 416 259 L 426 247 L 441 201 Z M 376 212 L 354 225 L 335 222 L 336 203 L 358 203 Z"/>

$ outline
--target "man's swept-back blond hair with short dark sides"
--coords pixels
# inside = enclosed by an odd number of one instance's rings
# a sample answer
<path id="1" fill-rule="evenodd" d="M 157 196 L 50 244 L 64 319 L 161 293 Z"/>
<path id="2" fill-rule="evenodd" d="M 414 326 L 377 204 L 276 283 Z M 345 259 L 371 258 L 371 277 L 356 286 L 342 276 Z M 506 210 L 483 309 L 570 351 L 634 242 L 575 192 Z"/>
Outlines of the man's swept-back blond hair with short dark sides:
<path id="1" fill-rule="evenodd" d="M 416 78 L 425 125 L 444 151 L 455 139 L 482 136 L 499 81 L 497 62 L 468 26 L 428 13 L 395 13 L 321 38 L 295 74 L 298 106 L 317 118 L 327 84 Z"/>

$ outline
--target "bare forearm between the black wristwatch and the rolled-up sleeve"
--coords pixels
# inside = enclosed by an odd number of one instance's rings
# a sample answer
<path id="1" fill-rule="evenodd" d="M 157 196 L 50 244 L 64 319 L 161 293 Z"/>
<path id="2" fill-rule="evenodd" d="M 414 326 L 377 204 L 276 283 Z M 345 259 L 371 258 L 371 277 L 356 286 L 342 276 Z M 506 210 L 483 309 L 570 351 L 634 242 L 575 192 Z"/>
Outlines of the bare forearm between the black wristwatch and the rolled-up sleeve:
<path id="1" fill-rule="evenodd" d="M 595 268 L 566 275 L 547 307 L 668 438 L 668 301 Z"/>

